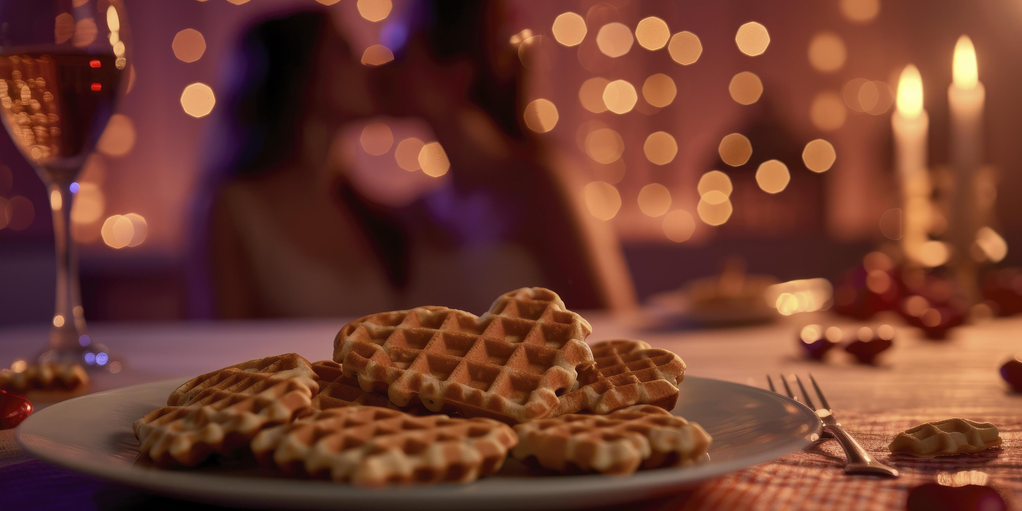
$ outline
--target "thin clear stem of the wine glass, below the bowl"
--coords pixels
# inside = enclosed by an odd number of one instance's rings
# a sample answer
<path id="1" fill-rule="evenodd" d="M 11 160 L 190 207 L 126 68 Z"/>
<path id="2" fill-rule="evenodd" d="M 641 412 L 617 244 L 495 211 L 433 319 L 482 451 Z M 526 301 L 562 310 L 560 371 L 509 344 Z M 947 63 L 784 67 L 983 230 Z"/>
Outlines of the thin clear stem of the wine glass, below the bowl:
<path id="1" fill-rule="evenodd" d="M 71 234 L 71 210 L 74 194 L 67 183 L 50 183 L 50 208 L 53 211 L 53 235 L 57 263 L 56 301 L 50 349 L 57 352 L 81 350 L 79 341 L 86 333 L 82 295 L 78 284 L 78 250 Z"/>

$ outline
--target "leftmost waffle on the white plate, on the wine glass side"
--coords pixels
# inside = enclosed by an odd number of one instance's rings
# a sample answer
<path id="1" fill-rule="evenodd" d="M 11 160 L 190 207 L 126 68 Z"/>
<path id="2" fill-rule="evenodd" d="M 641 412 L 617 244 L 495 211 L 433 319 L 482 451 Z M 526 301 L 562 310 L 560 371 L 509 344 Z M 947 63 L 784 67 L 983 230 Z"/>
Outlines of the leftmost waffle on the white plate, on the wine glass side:
<path id="1" fill-rule="evenodd" d="M 139 452 L 158 466 L 230 457 L 262 429 L 311 412 L 319 390 L 309 361 L 288 354 L 203 374 L 171 393 L 168 406 L 135 421 Z"/>

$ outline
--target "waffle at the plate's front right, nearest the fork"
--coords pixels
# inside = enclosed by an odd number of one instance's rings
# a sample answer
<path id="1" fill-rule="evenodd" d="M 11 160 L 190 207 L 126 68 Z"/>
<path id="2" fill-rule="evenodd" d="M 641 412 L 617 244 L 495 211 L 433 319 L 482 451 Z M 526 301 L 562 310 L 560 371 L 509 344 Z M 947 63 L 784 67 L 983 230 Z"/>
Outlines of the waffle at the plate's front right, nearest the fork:
<path id="1" fill-rule="evenodd" d="M 514 457 L 557 472 L 630 474 L 698 461 L 710 435 L 662 408 L 638 405 L 607 415 L 568 414 L 514 426 Z"/>

